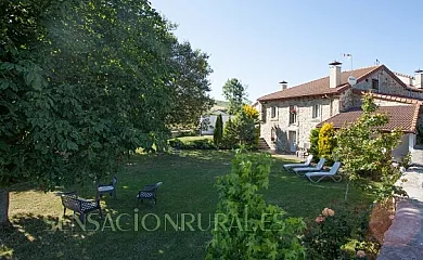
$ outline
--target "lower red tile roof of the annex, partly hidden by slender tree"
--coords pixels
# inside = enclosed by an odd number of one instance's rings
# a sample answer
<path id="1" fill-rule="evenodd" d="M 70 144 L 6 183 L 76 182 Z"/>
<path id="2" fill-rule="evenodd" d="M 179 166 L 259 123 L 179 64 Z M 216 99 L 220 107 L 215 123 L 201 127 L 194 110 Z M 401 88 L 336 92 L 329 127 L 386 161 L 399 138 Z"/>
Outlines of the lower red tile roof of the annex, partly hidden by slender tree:
<path id="1" fill-rule="evenodd" d="M 380 128 L 382 131 L 392 131 L 399 129 L 403 132 L 415 133 L 415 126 L 418 123 L 420 104 L 401 105 L 401 106 L 380 106 L 376 113 L 387 114 L 389 122 Z M 320 122 L 317 127 L 322 127 L 325 122 L 332 122 L 334 128 L 343 128 L 356 121 L 362 114 L 360 107 L 351 108 L 347 112 L 339 113 L 336 116 Z M 410 120 L 411 118 L 411 120 Z"/>

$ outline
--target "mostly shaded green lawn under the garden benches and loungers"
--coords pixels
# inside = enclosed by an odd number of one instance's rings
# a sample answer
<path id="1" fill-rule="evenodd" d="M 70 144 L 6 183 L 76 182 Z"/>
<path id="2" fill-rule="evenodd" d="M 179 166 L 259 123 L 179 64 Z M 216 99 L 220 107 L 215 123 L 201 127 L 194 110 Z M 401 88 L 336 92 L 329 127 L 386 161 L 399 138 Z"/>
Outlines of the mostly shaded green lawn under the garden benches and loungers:
<path id="1" fill-rule="evenodd" d="M 210 230 L 207 230 L 208 216 L 214 213 L 217 204 L 214 183 L 216 177 L 230 171 L 232 156 L 228 151 L 191 151 L 179 156 L 131 157 L 117 174 L 117 199 L 106 196 L 102 200 L 104 213 L 111 218 L 93 218 L 99 221 L 99 231 L 90 231 L 94 230 L 94 224 L 87 224 L 87 231 L 72 227 L 69 219 L 63 221 L 62 231 L 51 231 L 52 223 L 57 223 L 63 212 L 56 193 L 24 188 L 12 192 L 10 216 L 13 227 L 1 231 L 0 258 L 204 259 L 205 245 L 211 237 Z M 268 203 L 281 206 L 289 216 L 315 219 L 322 208 L 344 196 L 345 182 L 311 184 L 281 170 L 282 164 L 283 160 L 274 158 L 270 186 L 264 193 Z M 164 185 L 158 192 L 156 207 L 152 209 L 149 204 L 140 204 L 139 212 L 134 213 L 138 190 L 158 181 Z M 95 195 L 93 185 L 78 192 L 91 198 Z M 358 203 L 369 198 L 352 190 L 349 199 Z M 123 213 L 126 216 L 120 218 L 119 224 L 128 231 L 119 231 L 116 222 L 110 221 L 116 221 Z M 148 231 L 156 227 L 157 220 L 152 213 L 157 216 L 161 225 L 155 231 Z M 195 217 L 194 231 L 188 225 L 182 227 L 184 231 L 175 231 L 170 222 L 165 227 L 166 214 L 174 221 L 178 217 L 180 221 L 182 213 L 187 213 L 185 220 Z M 197 221 L 198 213 L 201 221 Z M 70 212 L 67 216 L 70 217 Z M 134 225 L 137 216 L 138 231 Z M 182 226 L 181 222 L 179 225 Z"/>

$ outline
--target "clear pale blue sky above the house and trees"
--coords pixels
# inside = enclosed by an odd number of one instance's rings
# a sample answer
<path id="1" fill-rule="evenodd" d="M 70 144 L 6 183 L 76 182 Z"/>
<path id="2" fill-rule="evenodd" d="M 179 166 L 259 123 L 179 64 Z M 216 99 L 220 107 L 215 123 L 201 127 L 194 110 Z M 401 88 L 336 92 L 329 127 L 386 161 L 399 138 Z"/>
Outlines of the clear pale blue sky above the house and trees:
<path id="1" fill-rule="evenodd" d="M 179 40 L 209 54 L 210 95 L 225 100 L 222 86 L 238 78 L 248 99 L 329 76 L 375 65 L 407 75 L 423 68 L 421 0 L 152 0 L 178 25 Z"/>

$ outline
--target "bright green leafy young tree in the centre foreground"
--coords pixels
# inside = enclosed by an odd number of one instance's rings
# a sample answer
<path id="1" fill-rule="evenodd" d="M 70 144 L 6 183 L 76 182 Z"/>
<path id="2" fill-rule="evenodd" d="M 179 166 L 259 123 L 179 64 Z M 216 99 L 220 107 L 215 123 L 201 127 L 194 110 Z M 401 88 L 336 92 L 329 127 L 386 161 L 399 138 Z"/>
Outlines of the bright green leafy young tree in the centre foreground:
<path id="1" fill-rule="evenodd" d="M 304 259 L 302 219 L 286 218 L 257 192 L 269 186 L 268 154 L 238 151 L 230 173 L 219 177 L 219 202 L 206 259 Z"/>

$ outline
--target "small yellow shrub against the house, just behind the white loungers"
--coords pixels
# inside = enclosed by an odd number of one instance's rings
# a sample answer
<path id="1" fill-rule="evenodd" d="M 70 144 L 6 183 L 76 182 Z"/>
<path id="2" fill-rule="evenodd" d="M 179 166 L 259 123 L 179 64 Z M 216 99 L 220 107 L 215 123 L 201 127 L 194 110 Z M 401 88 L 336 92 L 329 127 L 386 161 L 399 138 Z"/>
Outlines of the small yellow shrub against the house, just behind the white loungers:
<path id="1" fill-rule="evenodd" d="M 324 123 L 319 131 L 319 157 L 333 164 L 333 151 L 336 147 L 335 129 L 332 123 Z"/>

